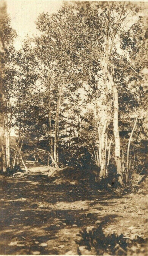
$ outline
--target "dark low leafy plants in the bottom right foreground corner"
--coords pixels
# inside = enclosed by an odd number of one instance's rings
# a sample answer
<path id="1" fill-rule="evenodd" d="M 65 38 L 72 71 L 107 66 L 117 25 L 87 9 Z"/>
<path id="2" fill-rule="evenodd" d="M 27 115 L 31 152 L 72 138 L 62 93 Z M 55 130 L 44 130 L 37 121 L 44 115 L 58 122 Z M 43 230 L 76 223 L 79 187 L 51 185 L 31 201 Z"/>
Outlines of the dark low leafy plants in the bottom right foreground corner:
<path id="1" fill-rule="evenodd" d="M 92 255 L 127 255 L 127 251 L 130 251 L 133 245 L 137 253 L 140 252 L 141 247 L 144 250 L 147 248 L 147 241 L 141 237 L 130 240 L 129 238 L 125 238 L 123 234 L 120 234 L 120 236 L 117 236 L 115 233 L 105 235 L 102 227 L 100 225 L 88 231 L 87 228 L 80 231 L 80 240 L 75 240 L 78 245 L 78 255 L 83 254 L 80 246 L 83 246 L 90 253 L 92 252 Z"/>

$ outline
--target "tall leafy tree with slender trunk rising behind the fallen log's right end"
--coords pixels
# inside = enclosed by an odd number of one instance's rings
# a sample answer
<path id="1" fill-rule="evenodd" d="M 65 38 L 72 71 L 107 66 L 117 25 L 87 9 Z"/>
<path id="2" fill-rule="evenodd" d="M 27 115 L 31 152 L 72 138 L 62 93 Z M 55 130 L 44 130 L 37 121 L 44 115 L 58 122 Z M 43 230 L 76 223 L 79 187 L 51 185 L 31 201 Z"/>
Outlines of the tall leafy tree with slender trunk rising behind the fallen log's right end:
<path id="1" fill-rule="evenodd" d="M 78 72 L 76 64 L 73 62 L 71 65 L 70 62 L 73 56 L 69 55 L 68 44 L 66 44 L 68 42 L 66 41 L 67 25 L 66 20 L 63 19 L 63 12 L 60 10 L 51 16 L 47 13 L 40 14 L 36 25 L 41 32 L 41 36 L 35 39 L 37 59 L 42 67 L 44 66 L 44 78 L 42 79 L 46 86 L 49 102 L 50 151 L 58 164 L 60 109 L 65 101 L 67 88 L 71 84 L 79 83 L 77 81 Z M 54 125 L 51 124 L 51 120 Z"/>

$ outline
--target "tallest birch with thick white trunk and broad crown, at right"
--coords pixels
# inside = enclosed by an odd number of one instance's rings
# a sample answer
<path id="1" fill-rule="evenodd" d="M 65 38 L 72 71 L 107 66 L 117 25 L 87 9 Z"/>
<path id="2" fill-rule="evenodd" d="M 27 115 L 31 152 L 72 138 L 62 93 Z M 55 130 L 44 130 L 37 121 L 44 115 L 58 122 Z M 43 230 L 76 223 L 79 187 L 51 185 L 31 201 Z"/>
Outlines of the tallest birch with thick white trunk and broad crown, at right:
<path id="1" fill-rule="evenodd" d="M 113 132 L 115 138 L 115 163 L 119 182 L 122 184 L 120 135 L 119 135 L 119 81 L 130 83 L 141 81 L 139 74 L 142 65 L 137 65 L 136 56 L 141 54 L 143 28 L 137 18 L 136 7 L 128 3 L 77 3 L 71 7 L 73 16 L 77 15 L 77 33 L 75 45 L 79 45 L 77 57 L 88 64 L 95 61 L 104 82 L 106 95 L 111 92 L 113 98 Z M 77 13 L 77 14 L 76 14 Z M 134 21 L 130 22 L 134 17 Z M 79 31 L 77 29 L 77 32 Z M 128 48 L 128 49 L 127 49 Z M 125 50 L 126 49 L 126 50 Z M 88 64 L 89 65 L 89 64 Z M 126 77 L 126 78 L 125 78 Z M 141 78 L 140 78 L 141 77 Z M 106 96 L 107 102 L 107 96 Z M 104 104 L 107 106 L 107 104 Z M 107 109 L 107 107 L 106 107 Z M 106 120 L 107 110 L 105 111 Z M 106 130 L 104 122 L 104 131 Z M 101 143 L 104 148 L 104 136 Z M 105 149 L 105 148 L 104 148 Z M 104 149 L 102 151 L 104 151 Z M 103 165 L 102 165 L 103 166 Z M 101 167 L 103 169 L 103 167 Z M 101 175 L 102 176 L 102 175 Z"/>

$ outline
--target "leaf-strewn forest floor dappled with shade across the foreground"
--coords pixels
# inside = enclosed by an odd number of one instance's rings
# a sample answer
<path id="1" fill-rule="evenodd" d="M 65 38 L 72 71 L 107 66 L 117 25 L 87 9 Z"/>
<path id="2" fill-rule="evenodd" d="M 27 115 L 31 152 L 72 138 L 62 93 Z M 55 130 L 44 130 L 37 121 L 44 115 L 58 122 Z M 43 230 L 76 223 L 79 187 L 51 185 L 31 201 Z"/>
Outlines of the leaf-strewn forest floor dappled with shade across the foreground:
<path id="1" fill-rule="evenodd" d="M 0 254 L 92 254 L 75 240 L 84 227 L 92 230 L 100 223 L 105 236 L 145 240 L 148 194 L 143 184 L 138 193 L 117 197 L 83 182 L 57 185 L 44 176 L 0 176 Z M 148 255 L 146 247 L 137 242 L 122 255 Z"/>

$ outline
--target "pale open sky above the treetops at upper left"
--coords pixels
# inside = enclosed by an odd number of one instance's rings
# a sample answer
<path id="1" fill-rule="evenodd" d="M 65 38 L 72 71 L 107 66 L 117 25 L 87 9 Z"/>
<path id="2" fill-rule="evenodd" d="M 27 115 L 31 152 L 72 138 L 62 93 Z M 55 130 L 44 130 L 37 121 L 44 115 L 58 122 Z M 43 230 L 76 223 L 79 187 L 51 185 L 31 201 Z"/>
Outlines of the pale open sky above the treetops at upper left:
<path id="1" fill-rule="evenodd" d="M 59 10 L 63 1 L 54 0 L 6 0 L 7 13 L 11 17 L 11 25 L 20 38 L 15 41 L 16 48 L 20 48 L 25 35 L 36 34 L 35 20 L 41 12 L 49 14 Z"/>

